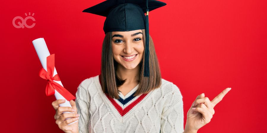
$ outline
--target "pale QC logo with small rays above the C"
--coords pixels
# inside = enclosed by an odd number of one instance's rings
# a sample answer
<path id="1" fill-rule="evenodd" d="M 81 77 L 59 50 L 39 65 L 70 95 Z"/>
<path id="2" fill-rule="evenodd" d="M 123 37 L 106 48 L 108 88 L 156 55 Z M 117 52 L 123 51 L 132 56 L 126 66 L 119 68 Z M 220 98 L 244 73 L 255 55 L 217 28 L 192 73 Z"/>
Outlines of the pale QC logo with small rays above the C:
<path id="1" fill-rule="evenodd" d="M 27 24 L 27 20 L 31 19 L 32 21 L 35 22 L 35 19 L 34 19 L 34 13 L 32 14 L 31 16 L 31 13 L 29 12 L 29 15 L 27 15 L 27 13 L 25 13 L 25 18 L 23 19 L 23 17 L 20 17 L 20 16 L 17 16 L 17 17 L 14 17 L 13 18 L 13 21 L 12 21 L 12 24 L 15 28 L 32 28 L 35 26 L 35 23 L 32 23 L 32 25 L 28 25 Z M 17 24 L 15 23 L 16 20 L 20 20 Z"/>

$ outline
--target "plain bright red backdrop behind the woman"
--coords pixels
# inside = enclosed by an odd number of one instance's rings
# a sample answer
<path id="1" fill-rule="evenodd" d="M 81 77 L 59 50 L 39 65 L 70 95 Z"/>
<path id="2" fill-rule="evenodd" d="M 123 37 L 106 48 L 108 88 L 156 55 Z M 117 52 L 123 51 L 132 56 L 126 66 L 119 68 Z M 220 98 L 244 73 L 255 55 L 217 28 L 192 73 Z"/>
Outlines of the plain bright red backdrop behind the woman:
<path id="1" fill-rule="evenodd" d="M 102 1 L 1 2 L 1 132 L 62 132 L 32 40 L 45 39 L 64 87 L 75 95 L 82 80 L 100 74 L 105 17 L 82 10 Z M 149 14 L 150 35 L 162 78 L 184 97 L 184 121 L 197 95 L 212 100 L 231 87 L 198 132 L 266 132 L 266 0 L 163 2 Z M 13 18 L 28 12 L 36 25 L 15 28 Z"/>

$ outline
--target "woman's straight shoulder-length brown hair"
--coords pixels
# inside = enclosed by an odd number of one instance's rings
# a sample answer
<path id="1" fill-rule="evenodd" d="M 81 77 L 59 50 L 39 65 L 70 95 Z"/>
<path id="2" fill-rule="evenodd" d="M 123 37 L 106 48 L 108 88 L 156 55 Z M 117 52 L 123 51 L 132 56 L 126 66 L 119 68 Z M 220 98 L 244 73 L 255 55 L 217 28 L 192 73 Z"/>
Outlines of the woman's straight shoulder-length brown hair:
<path id="1" fill-rule="evenodd" d="M 142 29 L 143 42 L 145 48 L 145 30 Z M 158 58 L 156 55 L 155 47 L 151 36 L 149 35 L 149 67 L 150 67 L 150 77 L 144 77 L 144 55 L 143 59 L 139 63 L 140 65 L 140 81 L 139 87 L 136 90 L 134 96 L 138 96 L 144 93 L 149 93 L 151 90 L 159 88 L 161 85 L 161 73 L 158 64 Z M 102 57 L 101 57 L 101 77 L 100 82 L 102 85 L 102 90 L 104 93 L 109 94 L 111 98 L 119 99 L 119 90 L 117 87 L 123 85 L 125 80 L 121 80 L 117 77 L 115 72 L 117 67 L 117 61 L 114 60 L 112 54 L 112 32 L 107 32 L 103 41 L 102 46 Z M 145 49 L 144 49 L 145 51 Z"/>

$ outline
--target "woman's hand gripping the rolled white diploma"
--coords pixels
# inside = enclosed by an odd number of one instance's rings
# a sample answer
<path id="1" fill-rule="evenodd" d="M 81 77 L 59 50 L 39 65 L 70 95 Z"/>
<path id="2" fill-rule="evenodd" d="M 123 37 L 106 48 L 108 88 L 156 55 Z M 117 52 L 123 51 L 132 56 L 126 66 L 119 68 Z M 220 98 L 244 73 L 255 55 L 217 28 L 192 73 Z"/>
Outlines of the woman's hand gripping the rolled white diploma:
<path id="1" fill-rule="evenodd" d="M 60 107 L 59 104 L 65 103 L 63 99 L 55 100 L 52 102 L 52 106 L 55 109 L 55 120 L 56 124 L 58 124 L 58 127 L 63 130 L 65 133 L 79 133 L 78 131 L 78 121 L 79 115 L 77 114 L 77 108 L 76 103 L 74 100 L 69 101 L 71 104 L 71 107 Z M 63 113 L 63 112 L 74 112 L 74 113 Z M 66 118 L 71 118 L 67 119 Z M 73 124 L 70 124 L 71 122 L 77 121 Z M 70 125 L 68 125 L 70 124 Z"/>

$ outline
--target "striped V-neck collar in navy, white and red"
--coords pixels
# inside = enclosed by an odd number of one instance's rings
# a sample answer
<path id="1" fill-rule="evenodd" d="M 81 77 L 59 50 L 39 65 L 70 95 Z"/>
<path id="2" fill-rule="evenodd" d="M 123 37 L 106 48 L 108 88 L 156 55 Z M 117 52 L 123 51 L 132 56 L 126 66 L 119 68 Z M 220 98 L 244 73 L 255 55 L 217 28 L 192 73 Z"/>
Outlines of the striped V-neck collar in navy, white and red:
<path id="1" fill-rule="evenodd" d="M 134 89 L 132 89 L 128 94 L 125 95 L 124 99 L 121 97 L 119 99 L 110 98 L 109 94 L 103 92 L 100 78 L 101 74 L 96 76 L 95 78 L 98 91 L 101 92 L 100 95 L 102 99 L 110 107 L 110 109 L 115 114 L 115 116 L 117 116 L 116 118 L 119 119 L 120 122 L 123 122 L 124 119 L 127 119 L 129 116 L 134 115 L 136 108 L 139 108 L 140 106 L 142 106 L 142 104 L 145 104 L 145 99 L 150 97 L 151 93 L 154 91 L 152 90 L 149 93 L 133 97 L 134 93 L 138 89 L 138 84 L 136 85 L 136 87 L 134 87 Z"/>

